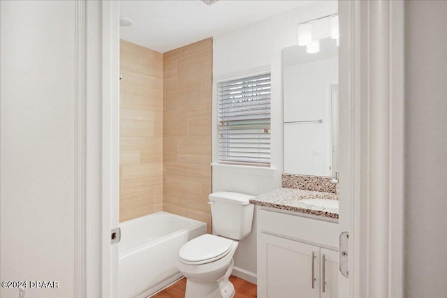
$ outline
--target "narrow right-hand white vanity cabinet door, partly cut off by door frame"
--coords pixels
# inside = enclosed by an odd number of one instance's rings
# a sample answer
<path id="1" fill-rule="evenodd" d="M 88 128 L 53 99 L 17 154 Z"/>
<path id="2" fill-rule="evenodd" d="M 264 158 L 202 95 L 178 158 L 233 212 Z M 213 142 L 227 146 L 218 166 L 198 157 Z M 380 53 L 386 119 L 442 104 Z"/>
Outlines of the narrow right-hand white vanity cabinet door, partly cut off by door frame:
<path id="1" fill-rule="evenodd" d="M 321 248 L 321 298 L 338 297 L 338 252 Z"/>

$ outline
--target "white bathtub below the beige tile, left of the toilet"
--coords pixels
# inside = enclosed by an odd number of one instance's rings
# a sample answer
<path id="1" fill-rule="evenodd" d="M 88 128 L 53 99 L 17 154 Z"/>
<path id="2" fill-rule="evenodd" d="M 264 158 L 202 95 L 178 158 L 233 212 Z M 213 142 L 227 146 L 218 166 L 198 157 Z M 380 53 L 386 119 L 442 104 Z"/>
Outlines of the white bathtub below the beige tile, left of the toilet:
<path id="1" fill-rule="evenodd" d="M 119 297 L 148 297 L 182 276 L 179 249 L 206 233 L 206 223 L 156 212 L 120 224 Z"/>

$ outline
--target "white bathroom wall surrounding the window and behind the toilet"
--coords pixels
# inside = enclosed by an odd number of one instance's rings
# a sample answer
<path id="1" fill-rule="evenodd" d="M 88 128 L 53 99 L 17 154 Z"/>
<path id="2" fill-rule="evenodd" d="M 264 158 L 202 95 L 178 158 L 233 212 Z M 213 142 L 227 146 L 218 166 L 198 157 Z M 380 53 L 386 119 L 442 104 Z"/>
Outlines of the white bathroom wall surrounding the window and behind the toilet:
<path id="1" fill-rule="evenodd" d="M 337 1 L 316 1 L 296 10 L 269 17 L 213 40 L 213 80 L 272 72 L 272 163 L 276 171 L 213 166 L 212 191 L 237 191 L 259 195 L 281 186 L 283 172 L 282 49 L 297 44 L 298 23 L 337 12 Z M 215 84 L 214 84 L 215 85 Z M 213 163 L 217 163 L 217 98 L 213 91 Z M 256 221 L 256 218 L 255 218 Z M 241 241 L 235 266 L 256 274 L 256 225 Z"/>

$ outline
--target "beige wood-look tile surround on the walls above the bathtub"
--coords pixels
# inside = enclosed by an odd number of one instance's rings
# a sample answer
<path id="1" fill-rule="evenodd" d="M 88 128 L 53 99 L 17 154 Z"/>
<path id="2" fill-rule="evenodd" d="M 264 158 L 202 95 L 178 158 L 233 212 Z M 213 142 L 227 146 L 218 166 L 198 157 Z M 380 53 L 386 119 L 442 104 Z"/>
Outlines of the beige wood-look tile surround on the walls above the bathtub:
<path id="1" fill-rule="evenodd" d="M 120 53 L 120 221 L 163 210 L 211 232 L 212 38 Z"/>

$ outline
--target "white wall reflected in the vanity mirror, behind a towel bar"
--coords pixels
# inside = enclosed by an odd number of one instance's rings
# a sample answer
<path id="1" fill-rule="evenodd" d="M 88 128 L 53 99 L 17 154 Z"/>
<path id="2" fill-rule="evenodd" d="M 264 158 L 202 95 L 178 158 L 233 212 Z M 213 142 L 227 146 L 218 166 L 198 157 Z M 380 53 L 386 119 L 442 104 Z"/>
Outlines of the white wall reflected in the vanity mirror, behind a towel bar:
<path id="1" fill-rule="evenodd" d="M 284 172 L 330 176 L 330 86 L 338 84 L 338 58 L 284 66 L 283 80 L 284 122 L 323 120 L 284 123 Z"/>

